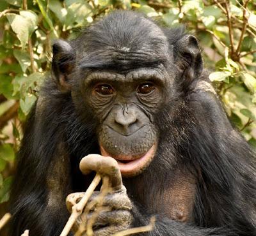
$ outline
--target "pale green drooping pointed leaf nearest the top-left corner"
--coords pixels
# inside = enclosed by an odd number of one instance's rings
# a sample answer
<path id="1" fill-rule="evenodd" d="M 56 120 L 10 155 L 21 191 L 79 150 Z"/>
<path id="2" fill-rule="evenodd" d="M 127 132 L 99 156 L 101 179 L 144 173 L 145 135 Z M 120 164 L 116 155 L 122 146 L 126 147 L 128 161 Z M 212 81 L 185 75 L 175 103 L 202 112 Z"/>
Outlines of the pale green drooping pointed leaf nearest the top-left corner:
<path id="1" fill-rule="evenodd" d="M 26 43 L 28 42 L 28 21 L 26 18 L 22 17 L 21 15 L 17 15 L 14 13 L 6 14 L 6 17 L 12 27 L 12 30 L 17 34 L 17 37 L 20 40 L 22 49 L 25 48 Z"/>

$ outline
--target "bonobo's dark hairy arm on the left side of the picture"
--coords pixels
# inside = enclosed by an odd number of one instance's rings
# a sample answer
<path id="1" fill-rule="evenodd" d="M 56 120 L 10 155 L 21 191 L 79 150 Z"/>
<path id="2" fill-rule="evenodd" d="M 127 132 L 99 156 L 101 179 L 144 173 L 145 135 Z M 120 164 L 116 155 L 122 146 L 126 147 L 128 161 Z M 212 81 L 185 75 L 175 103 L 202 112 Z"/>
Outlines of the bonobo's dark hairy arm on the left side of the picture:
<path id="1" fill-rule="evenodd" d="M 59 235 L 68 217 L 69 157 L 61 141 L 60 124 L 50 122 L 58 121 L 58 111 L 46 114 L 43 105 L 47 102 L 40 104 L 39 98 L 19 151 L 11 194 L 12 236 L 20 236 L 24 230 L 29 230 L 29 235 Z"/>

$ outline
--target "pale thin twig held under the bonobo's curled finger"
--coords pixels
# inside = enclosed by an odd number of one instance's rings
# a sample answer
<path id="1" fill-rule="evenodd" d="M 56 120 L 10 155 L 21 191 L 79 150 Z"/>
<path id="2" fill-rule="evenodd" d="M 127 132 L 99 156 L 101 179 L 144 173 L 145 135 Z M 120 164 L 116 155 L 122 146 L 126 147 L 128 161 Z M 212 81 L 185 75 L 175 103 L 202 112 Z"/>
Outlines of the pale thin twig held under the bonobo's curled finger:
<path id="1" fill-rule="evenodd" d="M 101 177 L 97 173 L 95 175 L 92 183 L 90 184 L 89 188 L 84 193 L 83 198 L 80 200 L 79 203 L 77 203 L 76 205 L 74 205 L 72 207 L 72 214 L 68 218 L 67 224 L 63 228 L 60 236 L 67 236 L 68 235 L 68 233 L 70 232 L 72 226 L 76 222 L 77 218 L 83 213 L 83 209 L 84 209 L 86 203 L 88 202 L 90 196 L 92 196 L 94 189 L 98 186 L 98 184 L 100 182 L 100 179 L 101 179 Z"/>

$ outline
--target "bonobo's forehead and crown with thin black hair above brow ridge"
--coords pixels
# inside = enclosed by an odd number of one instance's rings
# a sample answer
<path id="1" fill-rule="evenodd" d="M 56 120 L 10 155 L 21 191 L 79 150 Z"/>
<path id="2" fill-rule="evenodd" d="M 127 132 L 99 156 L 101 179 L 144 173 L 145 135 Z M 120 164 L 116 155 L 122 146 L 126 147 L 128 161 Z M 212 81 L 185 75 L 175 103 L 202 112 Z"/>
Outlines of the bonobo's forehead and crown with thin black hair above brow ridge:
<path id="1" fill-rule="evenodd" d="M 162 63 L 168 58 L 168 40 L 161 28 L 131 11 L 108 15 L 86 29 L 79 40 L 83 48 L 77 58 L 82 64 L 129 66 Z"/>

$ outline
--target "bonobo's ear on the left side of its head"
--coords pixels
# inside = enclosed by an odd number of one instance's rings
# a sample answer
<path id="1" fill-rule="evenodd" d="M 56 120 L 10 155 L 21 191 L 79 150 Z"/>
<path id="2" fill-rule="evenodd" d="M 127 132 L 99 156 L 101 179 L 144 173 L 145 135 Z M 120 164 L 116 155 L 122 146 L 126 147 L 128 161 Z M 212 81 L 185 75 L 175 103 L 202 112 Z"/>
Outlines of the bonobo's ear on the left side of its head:
<path id="1" fill-rule="evenodd" d="M 61 92 L 70 91 L 68 75 L 72 72 L 76 56 L 71 45 L 64 40 L 58 40 L 52 46 L 52 77 Z"/>

